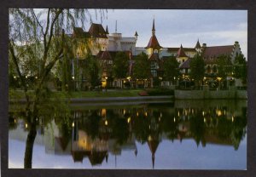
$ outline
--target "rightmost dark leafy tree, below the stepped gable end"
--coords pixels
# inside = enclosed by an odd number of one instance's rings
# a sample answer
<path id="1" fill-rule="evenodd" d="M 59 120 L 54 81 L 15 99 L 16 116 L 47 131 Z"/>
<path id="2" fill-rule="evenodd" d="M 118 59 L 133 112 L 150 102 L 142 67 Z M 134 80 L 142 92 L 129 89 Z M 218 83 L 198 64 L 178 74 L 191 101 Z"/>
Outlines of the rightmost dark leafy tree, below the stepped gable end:
<path id="1" fill-rule="evenodd" d="M 247 83 L 247 60 L 243 54 L 236 55 L 234 75 L 236 78 L 241 78 L 243 83 Z"/>

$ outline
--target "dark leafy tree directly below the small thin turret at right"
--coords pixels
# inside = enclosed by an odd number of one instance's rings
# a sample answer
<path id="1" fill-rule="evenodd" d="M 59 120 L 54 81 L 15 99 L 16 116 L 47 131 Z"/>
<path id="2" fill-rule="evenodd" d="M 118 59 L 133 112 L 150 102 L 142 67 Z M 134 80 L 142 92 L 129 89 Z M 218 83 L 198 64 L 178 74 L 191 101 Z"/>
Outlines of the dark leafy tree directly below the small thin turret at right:
<path id="1" fill-rule="evenodd" d="M 201 83 L 205 75 L 205 61 L 199 54 L 195 54 L 194 58 L 190 61 L 190 77 L 195 79 L 195 83 Z"/>

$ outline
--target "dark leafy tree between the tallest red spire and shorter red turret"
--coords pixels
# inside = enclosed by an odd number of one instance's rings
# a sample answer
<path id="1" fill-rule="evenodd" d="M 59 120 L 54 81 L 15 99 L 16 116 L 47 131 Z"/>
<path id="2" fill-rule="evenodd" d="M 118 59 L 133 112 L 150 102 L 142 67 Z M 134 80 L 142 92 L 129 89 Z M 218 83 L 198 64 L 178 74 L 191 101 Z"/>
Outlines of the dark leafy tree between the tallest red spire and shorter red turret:
<path id="1" fill-rule="evenodd" d="M 168 57 L 164 61 L 164 77 L 168 81 L 174 81 L 174 77 L 178 77 L 179 71 L 178 71 L 179 63 L 177 62 L 176 58 L 174 56 Z"/>

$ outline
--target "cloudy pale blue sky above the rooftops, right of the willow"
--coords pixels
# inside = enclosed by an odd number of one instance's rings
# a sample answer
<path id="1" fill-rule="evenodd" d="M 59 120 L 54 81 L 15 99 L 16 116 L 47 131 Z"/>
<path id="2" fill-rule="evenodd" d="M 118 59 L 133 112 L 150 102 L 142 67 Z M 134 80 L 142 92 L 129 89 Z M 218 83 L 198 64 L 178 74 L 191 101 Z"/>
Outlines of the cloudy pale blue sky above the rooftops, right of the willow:
<path id="1" fill-rule="evenodd" d="M 93 13 L 94 14 L 94 10 Z M 172 9 L 108 9 L 102 21 L 93 15 L 94 23 L 102 23 L 108 31 L 117 31 L 123 37 L 138 33 L 137 47 L 145 47 L 151 37 L 152 22 L 155 34 L 163 47 L 193 48 L 197 39 L 207 46 L 233 45 L 238 41 L 247 57 L 247 10 L 172 10 Z M 90 24 L 85 25 L 87 31 Z"/>

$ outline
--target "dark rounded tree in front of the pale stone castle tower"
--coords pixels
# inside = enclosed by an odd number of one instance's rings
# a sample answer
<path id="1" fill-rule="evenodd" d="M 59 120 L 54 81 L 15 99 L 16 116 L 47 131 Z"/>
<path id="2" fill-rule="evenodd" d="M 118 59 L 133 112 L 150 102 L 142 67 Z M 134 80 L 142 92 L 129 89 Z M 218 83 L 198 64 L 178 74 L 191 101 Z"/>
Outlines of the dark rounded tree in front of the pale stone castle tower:
<path id="1" fill-rule="evenodd" d="M 113 76 L 125 78 L 128 71 L 129 56 L 125 52 L 118 52 L 113 60 Z"/>

